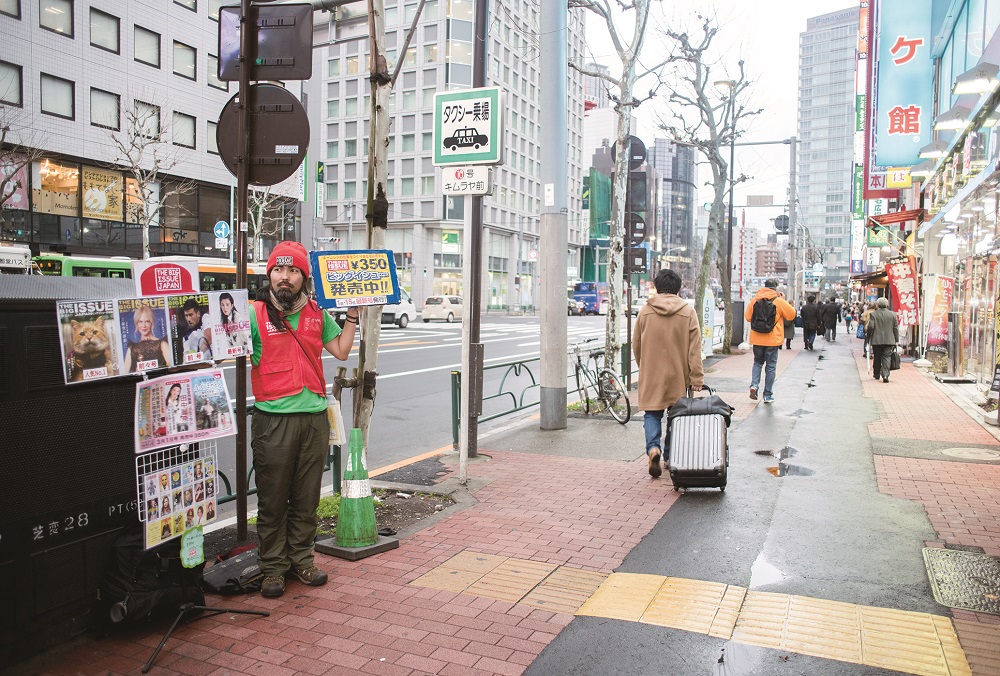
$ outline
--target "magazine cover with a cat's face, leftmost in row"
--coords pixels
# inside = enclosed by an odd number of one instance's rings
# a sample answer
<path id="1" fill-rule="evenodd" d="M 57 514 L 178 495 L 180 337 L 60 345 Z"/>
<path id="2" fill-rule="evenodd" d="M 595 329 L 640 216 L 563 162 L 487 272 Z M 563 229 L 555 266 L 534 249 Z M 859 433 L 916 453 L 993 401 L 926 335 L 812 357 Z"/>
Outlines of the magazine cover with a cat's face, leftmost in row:
<path id="1" fill-rule="evenodd" d="M 56 303 L 56 314 L 66 384 L 119 374 L 114 300 L 64 301 Z"/>

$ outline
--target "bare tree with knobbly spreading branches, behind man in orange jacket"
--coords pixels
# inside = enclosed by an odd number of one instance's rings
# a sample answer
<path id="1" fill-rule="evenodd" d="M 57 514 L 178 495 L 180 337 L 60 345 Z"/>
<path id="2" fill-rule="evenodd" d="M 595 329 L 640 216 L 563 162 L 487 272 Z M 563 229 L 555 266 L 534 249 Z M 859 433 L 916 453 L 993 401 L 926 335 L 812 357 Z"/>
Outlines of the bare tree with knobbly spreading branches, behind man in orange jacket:
<path id="1" fill-rule="evenodd" d="M 713 19 L 702 17 L 700 32 L 691 36 L 687 32 L 666 29 L 663 34 L 672 47 L 673 58 L 678 64 L 676 82 L 670 94 L 671 106 L 666 119 L 661 116 L 660 128 L 667 132 L 674 142 L 695 147 L 708 160 L 712 180 L 707 184 L 713 191 L 712 207 L 708 217 L 708 235 L 698 268 L 698 283 L 695 291 L 695 307 L 701 310 L 705 302 L 705 289 L 714 261 L 722 296 L 725 304 L 725 333 L 723 352 L 730 352 L 733 332 L 733 303 L 731 291 L 732 270 L 727 263 L 728 247 L 732 244 L 721 232 L 726 224 L 726 193 L 729 160 L 724 156 L 727 146 L 740 137 L 740 126 L 749 117 L 761 111 L 747 107 L 751 81 L 747 79 L 744 62 L 738 64 L 737 75 L 727 77 L 724 68 L 719 68 L 720 78 L 713 75 L 717 64 L 712 62 L 710 52 L 712 41 L 719 32 Z M 724 78 L 724 79 L 723 79 Z M 719 87 L 728 88 L 720 96 Z M 747 180 L 747 176 L 734 177 L 734 183 Z"/>

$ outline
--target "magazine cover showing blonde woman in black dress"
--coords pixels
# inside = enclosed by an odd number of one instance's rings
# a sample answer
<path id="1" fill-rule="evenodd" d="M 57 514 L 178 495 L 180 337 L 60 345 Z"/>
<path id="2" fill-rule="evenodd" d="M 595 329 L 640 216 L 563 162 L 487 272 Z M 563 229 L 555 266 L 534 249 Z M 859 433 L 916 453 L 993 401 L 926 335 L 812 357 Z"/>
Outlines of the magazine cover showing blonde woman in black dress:
<path id="1" fill-rule="evenodd" d="M 163 298 L 119 300 L 118 327 L 122 373 L 142 373 L 174 365 Z"/>

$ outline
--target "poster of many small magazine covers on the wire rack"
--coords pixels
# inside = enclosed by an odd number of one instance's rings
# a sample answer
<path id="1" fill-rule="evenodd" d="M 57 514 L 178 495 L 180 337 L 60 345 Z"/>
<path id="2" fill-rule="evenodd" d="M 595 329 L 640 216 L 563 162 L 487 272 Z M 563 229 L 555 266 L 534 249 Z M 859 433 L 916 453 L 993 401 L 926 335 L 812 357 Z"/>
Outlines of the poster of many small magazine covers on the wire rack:
<path id="1" fill-rule="evenodd" d="M 215 456 L 191 460 L 142 477 L 146 549 L 216 519 Z"/>

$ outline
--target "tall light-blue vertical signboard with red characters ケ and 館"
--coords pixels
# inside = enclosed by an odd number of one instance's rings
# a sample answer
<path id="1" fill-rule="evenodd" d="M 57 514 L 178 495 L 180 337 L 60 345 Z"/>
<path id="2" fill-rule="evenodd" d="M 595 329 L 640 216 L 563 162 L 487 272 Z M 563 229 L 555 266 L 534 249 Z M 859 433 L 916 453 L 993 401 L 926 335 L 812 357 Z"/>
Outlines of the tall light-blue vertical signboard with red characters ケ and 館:
<path id="1" fill-rule="evenodd" d="M 874 166 L 911 166 L 932 139 L 931 4 L 881 0 L 875 76 Z"/>

